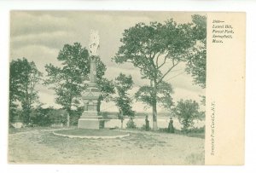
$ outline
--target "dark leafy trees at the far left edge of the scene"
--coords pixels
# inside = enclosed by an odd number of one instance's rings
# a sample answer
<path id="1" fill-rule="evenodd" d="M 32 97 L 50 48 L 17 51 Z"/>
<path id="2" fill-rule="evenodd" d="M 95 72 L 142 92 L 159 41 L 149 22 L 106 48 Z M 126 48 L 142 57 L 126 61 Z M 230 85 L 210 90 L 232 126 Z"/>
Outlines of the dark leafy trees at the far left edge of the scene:
<path id="1" fill-rule="evenodd" d="M 38 71 L 35 63 L 26 58 L 10 62 L 9 70 L 9 109 L 10 120 L 15 115 L 16 102 L 20 101 L 22 118 L 25 124 L 30 123 L 30 113 L 33 104 L 38 102 L 36 85 L 41 80 L 42 73 Z"/>

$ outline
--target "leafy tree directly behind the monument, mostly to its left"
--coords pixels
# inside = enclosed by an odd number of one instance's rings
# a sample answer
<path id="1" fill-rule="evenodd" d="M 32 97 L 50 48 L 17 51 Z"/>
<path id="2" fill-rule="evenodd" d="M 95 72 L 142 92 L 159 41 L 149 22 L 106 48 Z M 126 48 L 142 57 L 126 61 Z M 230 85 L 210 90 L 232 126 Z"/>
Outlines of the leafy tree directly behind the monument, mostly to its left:
<path id="1" fill-rule="evenodd" d="M 61 66 L 48 64 L 45 66 L 47 78 L 44 84 L 49 85 L 55 90 L 56 103 L 67 110 L 67 126 L 69 126 L 69 116 L 72 108 L 78 108 L 82 91 L 87 87 L 86 81 L 89 80 L 90 58 L 88 50 L 83 48 L 80 43 L 73 45 L 65 44 L 57 57 L 61 61 Z M 106 66 L 99 57 L 96 57 L 96 78 L 100 88 L 109 92 L 109 81 L 103 78 Z"/>

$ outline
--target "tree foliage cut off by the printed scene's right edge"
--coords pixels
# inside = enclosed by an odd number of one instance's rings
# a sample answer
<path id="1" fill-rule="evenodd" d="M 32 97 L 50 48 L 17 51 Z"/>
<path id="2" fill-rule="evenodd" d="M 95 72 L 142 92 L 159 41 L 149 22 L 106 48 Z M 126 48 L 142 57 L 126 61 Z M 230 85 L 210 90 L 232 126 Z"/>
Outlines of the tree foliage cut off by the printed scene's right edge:
<path id="1" fill-rule="evenodd" d="M 192 38 L 195 45 L 188 56 L 186 72 L 194 78 L 194 84 L 206 88 L 207 73 L 207 17 L 192 15 Z"/>

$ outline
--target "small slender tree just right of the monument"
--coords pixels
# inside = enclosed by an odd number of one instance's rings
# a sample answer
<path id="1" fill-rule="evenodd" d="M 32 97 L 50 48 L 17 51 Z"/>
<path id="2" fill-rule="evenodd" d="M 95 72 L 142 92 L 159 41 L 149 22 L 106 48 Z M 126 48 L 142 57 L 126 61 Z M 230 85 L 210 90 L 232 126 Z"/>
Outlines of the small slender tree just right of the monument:
<path id="1" fill-rule="evenodd" d="M 115 88 L 117 90 L 118 96 L 113 99 L 117 107 L 119 107 L 119 118 L 122 120 L 125 115 L 129 117 L 134 117 L 135 112 L 131 108 L 131 97 L 128 95 L 128 90 L 132 88 L 133 80 L 131 75 L 126 76 L 120 73 L 117 78 L 115 78 Z M 123 123 L 123 121 L 122 121 Z"/>

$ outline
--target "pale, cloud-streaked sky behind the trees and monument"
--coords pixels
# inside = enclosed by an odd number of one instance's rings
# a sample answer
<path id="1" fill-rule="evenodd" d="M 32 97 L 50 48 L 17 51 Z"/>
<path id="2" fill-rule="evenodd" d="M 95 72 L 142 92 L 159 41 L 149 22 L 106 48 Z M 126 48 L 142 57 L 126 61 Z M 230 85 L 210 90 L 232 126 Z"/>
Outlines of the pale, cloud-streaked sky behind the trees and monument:
<path id="1" fill-rule="evenodd" d="M 64 44 L 79 42 L 88 48 L 90 30 L 97 30 L 100 35 L 99 55 L 107 66 L 106 78 L 114 79 L 119 72 L 131 74 L 134 87 L 133 95 L 139 86 L 149 84 L 142 79 L 140 72 L 131 64 L 117 65 L 111 58 L 119 49 L 120 38 L 125 29 L 135 26 L 138 22 L 148 24 L 150 21 L 163 23 L 173 18 L 177 23 L 191 22 L 191 13 L 184 12 L 114 12 L 114 11 L 12 11 L 10 15 L 10 61 L 26 57 L 34 61 L 38 70 L 46 75 L 44 66 L 53 64 L 59 66 L 57 55 Z M 166 76 L 166 81 L 172 84 L 174 101 L 192 99 L 200 102 L 200 95 L 205 95 L 205 89 L 193 84 L 193 78 L 184 72 L 185 65 L 179 64 Z M 164 69 L 165 70 L 165 69 Z M 42 84 L 38 84 L 39 101 L 44 107 L 60 108 L 55 103 L 55 92 Z M 142 102 L 134 102 L 137 112 L 151 112 L 145 109 Z M 113 102 L 102 102 L 102 111 L 117 111 Z M 158 107 L 159 112 L 165 112 Z"/>

